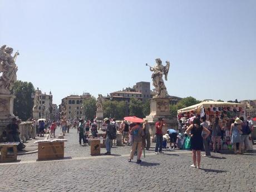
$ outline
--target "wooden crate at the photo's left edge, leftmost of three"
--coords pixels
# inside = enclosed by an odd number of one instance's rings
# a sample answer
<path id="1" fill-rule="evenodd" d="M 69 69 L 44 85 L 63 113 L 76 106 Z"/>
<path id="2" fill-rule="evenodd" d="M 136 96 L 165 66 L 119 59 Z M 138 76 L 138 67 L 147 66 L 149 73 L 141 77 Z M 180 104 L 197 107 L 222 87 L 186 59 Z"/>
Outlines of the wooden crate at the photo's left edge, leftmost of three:
<path id="1" fill-rule="evenodd" d="M 12 148 L 13 153 L 8 154 L 8 149 Z M 0 162 L 17 161 L 17 145 L 3 145 L 1 146 Z"/>

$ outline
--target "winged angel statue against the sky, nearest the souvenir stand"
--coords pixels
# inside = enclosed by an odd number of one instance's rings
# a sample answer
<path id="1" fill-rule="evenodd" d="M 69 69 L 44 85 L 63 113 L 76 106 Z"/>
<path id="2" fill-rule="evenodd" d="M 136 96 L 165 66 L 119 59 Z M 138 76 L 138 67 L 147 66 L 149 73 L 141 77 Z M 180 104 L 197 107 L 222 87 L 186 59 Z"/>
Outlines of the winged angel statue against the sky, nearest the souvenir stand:
<path id="1" fill-rule="evenodd" d="M 150 71 L 153 72 L 151 78 L 156 91 L 156 95 L 153 98 L 164 98 L 167 96 L 167 90 L 164 84 L 163 75 L 165 76 L 165 81 L 167 81 L 170 62 L 166 61 L 166 66 L 163 66 L 160 58 L 157 58 L 155 61 L 155 67 L 146 64 L 146 66 L 150 67 Z"/>

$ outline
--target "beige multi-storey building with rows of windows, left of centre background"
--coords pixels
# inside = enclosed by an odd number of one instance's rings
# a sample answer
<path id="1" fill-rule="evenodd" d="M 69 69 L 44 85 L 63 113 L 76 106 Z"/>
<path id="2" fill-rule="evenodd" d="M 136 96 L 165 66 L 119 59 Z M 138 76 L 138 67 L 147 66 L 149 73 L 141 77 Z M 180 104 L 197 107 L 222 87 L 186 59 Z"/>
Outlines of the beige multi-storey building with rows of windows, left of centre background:
<path id="1" fill-rule="evenodd" d="M 83 95 L 70 95 L 63 98 L 61 101 L 61 118 L 67 120 L 84 118 L 83 101 L 91 97 L 90 93 Z"/>

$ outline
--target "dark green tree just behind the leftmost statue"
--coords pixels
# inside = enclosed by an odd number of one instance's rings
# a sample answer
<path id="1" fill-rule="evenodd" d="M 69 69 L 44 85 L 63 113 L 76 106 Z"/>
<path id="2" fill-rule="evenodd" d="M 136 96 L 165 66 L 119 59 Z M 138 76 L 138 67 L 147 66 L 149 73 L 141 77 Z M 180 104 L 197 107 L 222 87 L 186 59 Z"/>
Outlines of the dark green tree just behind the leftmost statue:
<path id="1" fill-rule="evenodd" d="M 13 113 L 22 121 L 32 117 L 33 99 L 35 88 L 31 82 L 16 81 L 11 92 L 16 96 L 13 104 Z"/>

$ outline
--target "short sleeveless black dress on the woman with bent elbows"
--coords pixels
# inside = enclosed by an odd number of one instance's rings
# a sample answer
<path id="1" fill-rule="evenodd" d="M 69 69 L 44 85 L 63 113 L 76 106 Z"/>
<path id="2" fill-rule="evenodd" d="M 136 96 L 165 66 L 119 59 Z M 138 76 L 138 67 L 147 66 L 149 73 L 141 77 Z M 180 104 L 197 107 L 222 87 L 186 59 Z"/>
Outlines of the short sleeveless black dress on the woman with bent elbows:
<path id="1" fill-rule="evenodd" d="M 190 131 L 191 136 L 191 149 L 192 150 L 203 150 L 203 137 L 202 137 L 203 126 L 198 128 L 193 125 Z"/>

